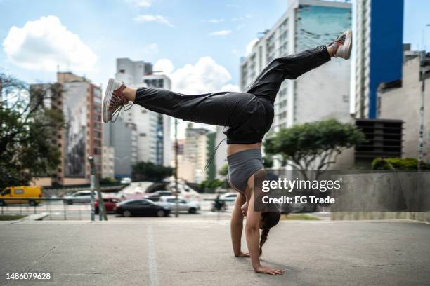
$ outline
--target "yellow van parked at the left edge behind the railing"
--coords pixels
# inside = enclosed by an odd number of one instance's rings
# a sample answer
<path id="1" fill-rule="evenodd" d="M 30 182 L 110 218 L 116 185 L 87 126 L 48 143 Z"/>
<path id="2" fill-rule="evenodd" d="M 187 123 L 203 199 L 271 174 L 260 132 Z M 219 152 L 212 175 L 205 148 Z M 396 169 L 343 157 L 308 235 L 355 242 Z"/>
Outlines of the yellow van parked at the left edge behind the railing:
<path id="1" fill-rule="evenodd" d="M 29 205 L 38 205 L 41 200 L 19 200 L 19 198 L 41 198 L 40 186 L 8 186 L 1 191 L 0 205 L 11 203 L 28 203 Z M 17 200 L 2 200 L 2 198 L 17 198 Z"/>

